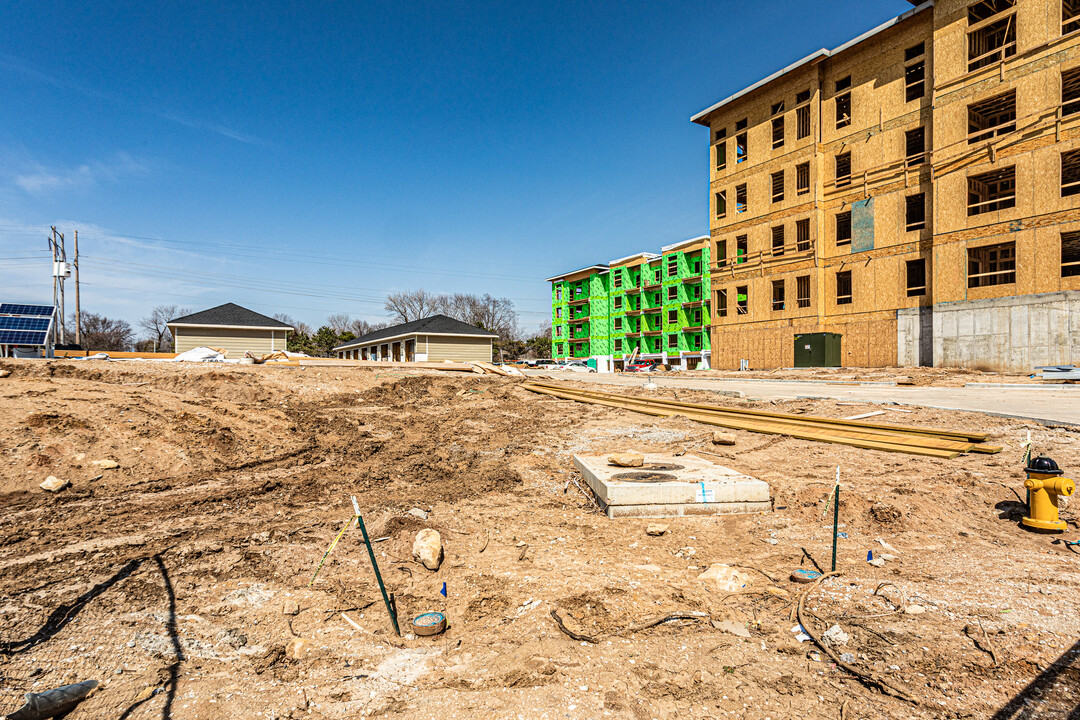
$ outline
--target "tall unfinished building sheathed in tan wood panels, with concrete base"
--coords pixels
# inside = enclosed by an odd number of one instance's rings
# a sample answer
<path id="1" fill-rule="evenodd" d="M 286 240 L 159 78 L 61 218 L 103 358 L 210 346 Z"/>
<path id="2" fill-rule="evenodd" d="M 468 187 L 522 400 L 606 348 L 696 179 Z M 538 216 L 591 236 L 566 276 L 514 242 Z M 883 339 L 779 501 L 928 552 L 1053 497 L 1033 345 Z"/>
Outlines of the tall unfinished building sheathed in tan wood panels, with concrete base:
<path id="1" fill-rule="evenodd" d="M 1080 364 L 1080 0 L 922 2 L 692 121 L 714 367 Z"/>

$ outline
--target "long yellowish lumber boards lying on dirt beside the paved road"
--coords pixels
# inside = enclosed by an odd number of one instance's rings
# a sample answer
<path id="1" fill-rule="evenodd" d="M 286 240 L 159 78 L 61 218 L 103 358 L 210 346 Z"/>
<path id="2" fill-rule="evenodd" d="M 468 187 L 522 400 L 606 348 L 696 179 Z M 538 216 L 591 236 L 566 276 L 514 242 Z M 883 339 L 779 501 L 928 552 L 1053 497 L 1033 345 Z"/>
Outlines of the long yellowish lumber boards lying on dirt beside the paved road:
<path id="1" fill-rule="evenodd" d="M 869 450 L 906 452 L 933 458 L 955 458 L 963 452 L 1001 451 L 998 446 L 986 445 L 988 436 L 981 433 L 765 412 L 663 398 L 631 397 L 545 382 L 526 382 L 522 388 L 563 399 L 605 405 L 645 415 L 669 418 L 681 416 L 708 425 L 770 435 L 787 435 L 804 440 L 851 445 Z"/>

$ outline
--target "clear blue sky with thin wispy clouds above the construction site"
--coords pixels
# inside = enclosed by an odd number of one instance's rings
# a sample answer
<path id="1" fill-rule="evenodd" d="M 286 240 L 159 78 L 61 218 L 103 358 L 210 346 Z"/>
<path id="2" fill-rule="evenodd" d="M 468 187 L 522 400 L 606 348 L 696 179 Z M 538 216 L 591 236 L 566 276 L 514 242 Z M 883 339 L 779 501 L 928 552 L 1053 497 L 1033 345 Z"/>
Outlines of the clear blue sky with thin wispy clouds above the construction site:
<path id="1" fill-rule="evenodd" d="M 910 6 L 6 0 L 0 299 L 51 300 L 56 225 L 133 323 L 423 287 L 535 329 L 544 277 L 707 233 L 691 114 Z"/>

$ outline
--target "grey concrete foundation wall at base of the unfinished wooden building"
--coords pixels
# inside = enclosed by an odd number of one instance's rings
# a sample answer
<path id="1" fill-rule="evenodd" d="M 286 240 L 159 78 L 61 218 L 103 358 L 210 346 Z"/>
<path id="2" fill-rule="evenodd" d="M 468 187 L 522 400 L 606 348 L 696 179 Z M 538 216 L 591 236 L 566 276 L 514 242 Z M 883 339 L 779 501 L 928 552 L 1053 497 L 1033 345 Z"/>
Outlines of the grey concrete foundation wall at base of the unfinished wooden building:
<path id="1" fill-rule="evenodd" d="M 927 311 L 896 313 L 901 366 L 1027 372 L 1080 363 L 1080 291 L 944 302 Z"/>

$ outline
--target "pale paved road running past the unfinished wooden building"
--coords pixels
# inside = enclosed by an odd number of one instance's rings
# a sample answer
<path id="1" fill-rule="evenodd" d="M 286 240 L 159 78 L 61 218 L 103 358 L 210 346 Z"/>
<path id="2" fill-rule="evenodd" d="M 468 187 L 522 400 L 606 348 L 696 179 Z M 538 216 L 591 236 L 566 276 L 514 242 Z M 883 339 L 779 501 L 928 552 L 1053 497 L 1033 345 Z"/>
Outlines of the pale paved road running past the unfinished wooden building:
<path id="1" fill-rule="evenodd" d="M 823 382 L 739 380 L 728 378 L 679 378 L 646 373 L 593 373 L 528 371 L 556 380 L 594 382 L 604 385 L 640 388 L 651 378 L 660 388 L 737 391 L 746 397 L 794 399 L 827 397 L 865 403 L 897 403 L 948 410 L 989 412 L 1008 418 L 1047 423 L 1080 425 L 1080 385 L 1035 385 L 1028 388 L 915 388 L 909 385 L 848 385 Z"/>

